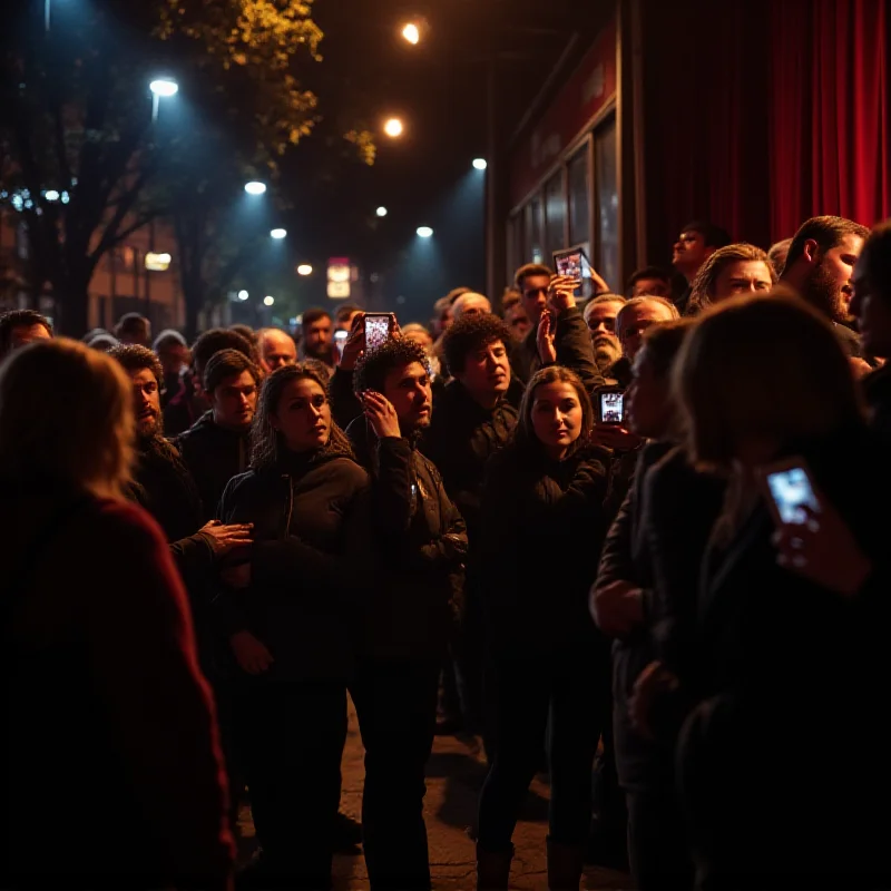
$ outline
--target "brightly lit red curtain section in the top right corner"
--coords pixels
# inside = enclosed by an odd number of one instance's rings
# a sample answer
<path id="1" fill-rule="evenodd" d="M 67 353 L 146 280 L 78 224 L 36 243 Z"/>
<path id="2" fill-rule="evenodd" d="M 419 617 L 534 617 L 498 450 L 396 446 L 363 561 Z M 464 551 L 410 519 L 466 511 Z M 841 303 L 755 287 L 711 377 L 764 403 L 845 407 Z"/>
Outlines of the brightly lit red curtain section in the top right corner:
<path id="1" fill-rule="evenodd" d="M 888 0 L 771 3 L 771 231 L 891 215 Z"/>

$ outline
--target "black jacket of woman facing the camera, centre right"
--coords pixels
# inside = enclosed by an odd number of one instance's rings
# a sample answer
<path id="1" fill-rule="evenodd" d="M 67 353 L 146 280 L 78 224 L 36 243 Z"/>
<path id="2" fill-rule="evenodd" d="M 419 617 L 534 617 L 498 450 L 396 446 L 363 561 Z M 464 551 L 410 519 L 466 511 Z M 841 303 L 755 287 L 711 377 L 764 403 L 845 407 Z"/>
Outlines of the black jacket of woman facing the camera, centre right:
<path id="1" fill-rule="evenodd" d="M 604 449 L 561 461 L 517 446 L 489 462 L 480 560 L 488 635 L 502 654 L 603 646 L 588 611 L 606 533 Z"/>

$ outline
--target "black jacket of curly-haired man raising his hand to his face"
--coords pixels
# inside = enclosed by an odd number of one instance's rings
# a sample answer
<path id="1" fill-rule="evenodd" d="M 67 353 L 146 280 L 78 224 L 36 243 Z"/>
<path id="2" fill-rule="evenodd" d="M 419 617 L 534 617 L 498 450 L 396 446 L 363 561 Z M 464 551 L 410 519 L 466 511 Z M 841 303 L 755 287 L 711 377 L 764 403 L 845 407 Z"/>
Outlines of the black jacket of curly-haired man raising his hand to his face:
<path id="1" fill-rule="evenodd" d="M 437 468 L 407 439 L 379 440 L 364 418 L 346 431 L 372 477 L 379 584 L 364 649 L 378 656 L 444 652 L 460 609 L 467 529 Z"/>

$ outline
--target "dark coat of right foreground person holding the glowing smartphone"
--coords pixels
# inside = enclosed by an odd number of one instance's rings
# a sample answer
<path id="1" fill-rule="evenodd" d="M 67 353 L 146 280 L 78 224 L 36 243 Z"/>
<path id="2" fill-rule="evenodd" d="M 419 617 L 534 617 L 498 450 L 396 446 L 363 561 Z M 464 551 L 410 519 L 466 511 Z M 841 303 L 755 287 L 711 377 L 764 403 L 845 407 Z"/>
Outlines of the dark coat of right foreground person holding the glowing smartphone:
<path id="1" fill-rule="evenodd" d="M 763 501 L 709 546 L 701 703 L 682 736 L 681 787 L 697 860 L 715 881 L 765 887 L 772 875 L 777 887 L 803 887 L 819 874 L 824 887 L 835 877 L 858 888 L 868 877 L 884 888 L 891 820 L 875 803 L 891 794 L 891 519 L 874 507 L 891 498 L 887 451 L 850 429 L 789 453 L 807 461 L 871 558 L 873 579 L 844 597 L 780 567 Z"/>

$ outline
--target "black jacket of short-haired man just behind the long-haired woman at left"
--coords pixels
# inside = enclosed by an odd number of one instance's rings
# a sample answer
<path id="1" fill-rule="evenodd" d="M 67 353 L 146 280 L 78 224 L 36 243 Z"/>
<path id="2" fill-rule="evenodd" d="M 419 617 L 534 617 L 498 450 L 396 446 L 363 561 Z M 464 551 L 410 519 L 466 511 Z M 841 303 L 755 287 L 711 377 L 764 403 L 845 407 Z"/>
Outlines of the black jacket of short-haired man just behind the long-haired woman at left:
<path id="1" fill-rule="evenodd" d="M 205 522 L 212 520 L 226 483 L 247 470 L 249 431 L 226 430 L 214 421 L 213 411 L 207 411 L 175 440 L 175 444 L 198 487 Z"/>

